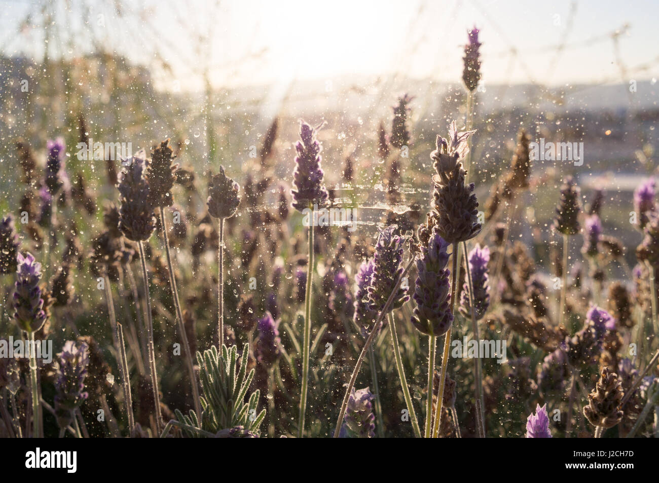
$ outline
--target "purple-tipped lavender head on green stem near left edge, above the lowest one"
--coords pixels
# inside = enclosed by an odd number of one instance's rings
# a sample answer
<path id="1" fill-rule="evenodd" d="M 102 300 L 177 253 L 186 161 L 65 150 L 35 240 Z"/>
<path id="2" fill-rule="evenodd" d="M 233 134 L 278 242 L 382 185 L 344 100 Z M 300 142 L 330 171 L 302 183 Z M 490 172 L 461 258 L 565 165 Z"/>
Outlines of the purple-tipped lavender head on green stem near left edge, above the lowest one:
<path id="1" fill-rule="evenodd" d="M 41 264 L 36 262 L 32 254 L 16 256 L 18 270 L 16 271 L 16 291 L 14 292 L 14 319 L 20 329 L 34 333 L 45 322 L 43 312 L 42 291 L 39 282 L 42 277 Z"/>

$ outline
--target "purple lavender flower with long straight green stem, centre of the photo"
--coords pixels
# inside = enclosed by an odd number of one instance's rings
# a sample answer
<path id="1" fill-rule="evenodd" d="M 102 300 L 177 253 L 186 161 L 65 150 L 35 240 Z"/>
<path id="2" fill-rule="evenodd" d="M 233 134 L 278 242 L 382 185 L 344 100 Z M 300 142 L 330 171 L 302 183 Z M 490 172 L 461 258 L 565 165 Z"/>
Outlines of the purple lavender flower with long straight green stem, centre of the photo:
<path id="1" fill-rule="evenodd" d="M 293 171 L 293 208 L 299 212 L 311 212 L 315 215 L 316 207 L 326 206 L 329 198 L 328 190 L 323 182 L 323 170 L 320 167 L 322 146 L 316 140 L 316 134 L 322 127 L 312 128 L 301 122 L 300 140 L 295 144 L 295 171 Z M 302 389 L 300 394 L 300 414 L 297 428 L 299 438 L 304 436 L 304 416 L 306 412 L 306 397 L 309 384 L 309 356 L 311 349 L 311 290 L 314 275 L 314 224 L 309 220 L 309 255 L 306 266 L 306 293 L 304 293 L 304 332 L 302 347 Z"/>

